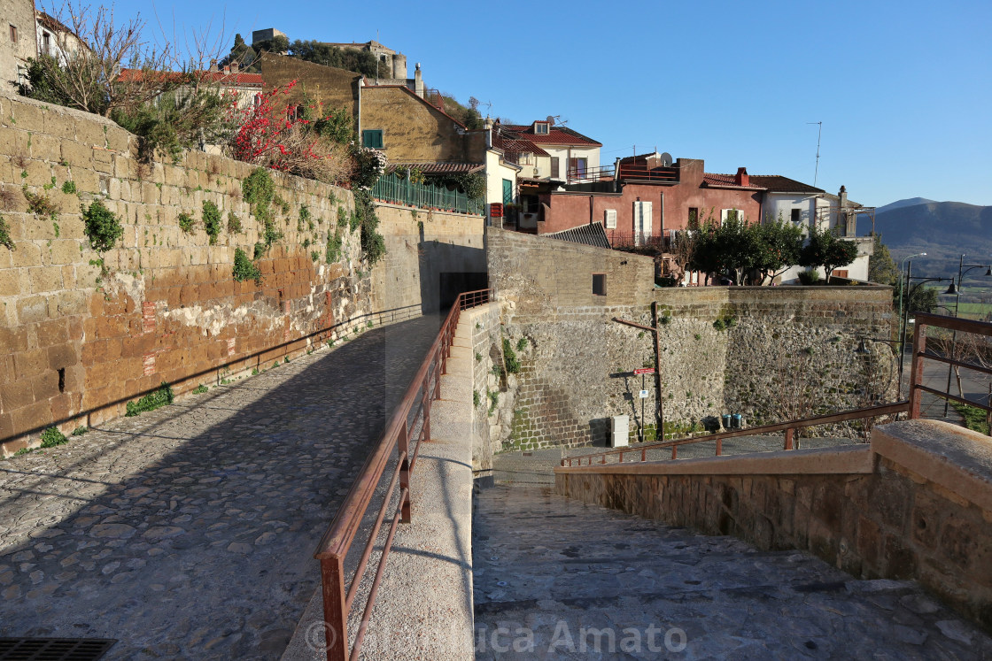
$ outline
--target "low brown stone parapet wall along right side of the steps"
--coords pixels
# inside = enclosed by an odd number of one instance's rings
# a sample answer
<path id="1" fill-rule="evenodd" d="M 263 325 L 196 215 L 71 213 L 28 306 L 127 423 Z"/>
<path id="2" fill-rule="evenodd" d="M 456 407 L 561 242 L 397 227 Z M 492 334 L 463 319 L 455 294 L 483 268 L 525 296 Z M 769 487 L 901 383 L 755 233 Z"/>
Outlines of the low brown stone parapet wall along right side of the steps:
<path id="1" fill-rule="evenodd" d="M 896 422 L 870 447 L 560 468 L 556 489 L 858 577 L 916 579 L 992 628 L 992 445 L 976 432 Z"/>

